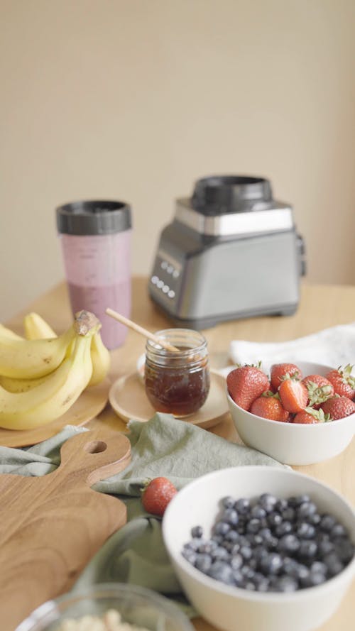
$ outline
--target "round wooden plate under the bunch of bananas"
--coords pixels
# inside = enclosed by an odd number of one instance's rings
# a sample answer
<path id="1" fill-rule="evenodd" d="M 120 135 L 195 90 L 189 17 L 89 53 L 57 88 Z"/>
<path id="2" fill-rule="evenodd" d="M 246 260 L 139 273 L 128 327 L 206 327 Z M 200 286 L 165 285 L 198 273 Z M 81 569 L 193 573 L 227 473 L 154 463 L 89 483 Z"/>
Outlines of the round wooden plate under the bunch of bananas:
<path id="1" fill-rule="evenodd" d="M 109 399 L 110 385 L 111 381 L 106 378 L 102 383 L 87 388 L 65 414 L 48 425 L 41 425 L 35 429 L 2 429 L 0 427 L 0 445 L 4 447 L 35 445 L 58 434 L 65 425 L 84 425 L 104 409 Z"/>

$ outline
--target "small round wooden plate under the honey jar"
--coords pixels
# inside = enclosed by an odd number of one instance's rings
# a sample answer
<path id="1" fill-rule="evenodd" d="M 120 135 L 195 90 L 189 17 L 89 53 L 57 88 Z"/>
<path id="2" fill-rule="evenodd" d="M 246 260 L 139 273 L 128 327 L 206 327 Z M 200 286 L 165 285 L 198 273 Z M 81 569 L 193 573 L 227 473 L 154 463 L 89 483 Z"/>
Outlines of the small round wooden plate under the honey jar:
<path id="1" fill-rule="evenodd" d="M 215 371 L 210 371 L 211 386 L 207 401 L 196 414 L 181 419 L 204 429 L 214 427 L 229 414 L 226 401 L 226 379 Z M 117 379 L 109 392 L 109 402 L 116 415 L 125 422 L 131 419 L 146 422 L 155 415 L 148 400 L 144 385 L 136 371 Z"/>

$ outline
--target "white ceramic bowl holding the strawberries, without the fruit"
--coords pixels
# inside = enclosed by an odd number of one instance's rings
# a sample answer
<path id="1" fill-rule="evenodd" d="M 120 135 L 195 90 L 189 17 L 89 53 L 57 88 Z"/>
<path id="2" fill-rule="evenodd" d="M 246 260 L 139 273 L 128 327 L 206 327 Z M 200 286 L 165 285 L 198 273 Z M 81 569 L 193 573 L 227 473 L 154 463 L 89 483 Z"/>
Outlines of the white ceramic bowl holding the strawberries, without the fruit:
<path id="1" fill-rule="evenodd" d="M 302 375 L 326 375 L 332 367 L 296 362 Z M 355 434 L 355 414 L 329 423 L 297 424 L 270 421 L 246 412 L 229 396 L 229 412 L 236 431 L 249 447 L 291 465 L 321 462 L 344 451 Z"/>

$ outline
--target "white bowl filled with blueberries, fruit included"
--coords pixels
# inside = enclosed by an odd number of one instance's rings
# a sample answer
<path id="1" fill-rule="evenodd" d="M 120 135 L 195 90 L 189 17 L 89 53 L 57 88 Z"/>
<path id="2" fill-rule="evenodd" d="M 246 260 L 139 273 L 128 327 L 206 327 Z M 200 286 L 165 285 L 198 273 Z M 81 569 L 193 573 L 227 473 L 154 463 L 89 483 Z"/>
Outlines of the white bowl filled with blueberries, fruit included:
<path id="1" fill-rule="evenodd" d="M 287 468 L 226 468 L 182 488 L 163 538 L 187 598 L 223 631 L 311 631 L 354 578 L 355 515 Z"/>

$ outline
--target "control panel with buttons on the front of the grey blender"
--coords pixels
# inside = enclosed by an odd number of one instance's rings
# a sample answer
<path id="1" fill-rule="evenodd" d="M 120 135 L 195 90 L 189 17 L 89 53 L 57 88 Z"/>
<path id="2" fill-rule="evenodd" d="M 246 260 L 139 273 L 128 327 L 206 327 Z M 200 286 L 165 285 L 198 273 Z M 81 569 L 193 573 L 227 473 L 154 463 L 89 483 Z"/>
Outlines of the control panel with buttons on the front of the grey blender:
<path id="1" fill-rule="evenodd" d="M 150 279 L 150 290 L 156 297 L 174 302 L 180 287 L 181 263 L 168 253 L 158 251 L 155 258 L 153 273 Z"/>

